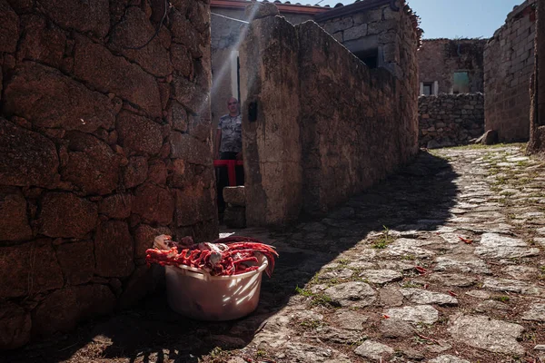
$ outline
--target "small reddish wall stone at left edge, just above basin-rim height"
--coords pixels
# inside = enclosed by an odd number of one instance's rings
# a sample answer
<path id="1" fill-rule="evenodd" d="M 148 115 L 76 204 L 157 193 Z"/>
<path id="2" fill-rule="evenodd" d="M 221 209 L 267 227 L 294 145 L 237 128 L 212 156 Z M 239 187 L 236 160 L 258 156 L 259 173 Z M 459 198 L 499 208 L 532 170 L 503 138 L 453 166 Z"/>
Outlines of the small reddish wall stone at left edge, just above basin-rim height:
<path id="1" fill-rule="evenodd" d="M 28 240 L 32 230 L 26 215 L 26 200 L 16 188 L 0 187 L 0 240 Z"/>

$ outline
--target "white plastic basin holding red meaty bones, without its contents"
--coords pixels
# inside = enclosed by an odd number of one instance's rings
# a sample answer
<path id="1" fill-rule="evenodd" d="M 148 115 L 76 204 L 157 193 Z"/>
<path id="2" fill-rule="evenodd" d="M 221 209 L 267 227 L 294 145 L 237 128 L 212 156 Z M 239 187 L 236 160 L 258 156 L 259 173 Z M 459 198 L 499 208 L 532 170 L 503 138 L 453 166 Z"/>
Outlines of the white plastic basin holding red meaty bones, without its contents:
<path id="1" fill-rule="evenodd" d="M 242 318 L 257 308 L 263 270 L 233 276 L 210 276 L 201 270 L 165 266 L 168 305 L 191 319 L 222 321 Z"/>

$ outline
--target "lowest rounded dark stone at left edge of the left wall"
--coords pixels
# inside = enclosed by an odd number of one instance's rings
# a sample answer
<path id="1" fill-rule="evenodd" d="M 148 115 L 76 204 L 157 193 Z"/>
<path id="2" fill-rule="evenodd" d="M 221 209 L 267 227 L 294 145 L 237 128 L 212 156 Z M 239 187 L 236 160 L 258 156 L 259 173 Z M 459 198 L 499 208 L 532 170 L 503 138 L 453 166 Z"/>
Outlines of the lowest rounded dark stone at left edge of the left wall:
<path id="1" fill-rule="evenodd" d="M 0 349 L 19 348 L 30 339 L 30 314 L 12 302 L 0 304 Z"/>

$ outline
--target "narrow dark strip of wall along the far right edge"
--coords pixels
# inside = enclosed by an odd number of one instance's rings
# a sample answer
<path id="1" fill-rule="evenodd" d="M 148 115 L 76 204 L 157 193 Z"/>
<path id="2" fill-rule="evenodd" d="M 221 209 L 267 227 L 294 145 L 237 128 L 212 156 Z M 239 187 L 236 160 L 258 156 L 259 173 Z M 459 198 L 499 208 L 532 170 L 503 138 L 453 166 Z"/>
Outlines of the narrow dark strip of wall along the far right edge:
<path id="1" fill-rule="evenodd" d="M 545 152 L 545 5 L 538 4 L 535 71 L 531 87 L 529 153 Z"/>

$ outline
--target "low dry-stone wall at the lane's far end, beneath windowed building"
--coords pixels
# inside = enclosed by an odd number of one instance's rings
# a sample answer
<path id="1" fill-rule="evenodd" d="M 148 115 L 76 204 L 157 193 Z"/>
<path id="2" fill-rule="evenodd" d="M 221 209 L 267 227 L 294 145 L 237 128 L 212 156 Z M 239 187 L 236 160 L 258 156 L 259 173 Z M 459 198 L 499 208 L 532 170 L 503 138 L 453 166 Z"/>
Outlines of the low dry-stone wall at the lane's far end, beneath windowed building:
<path id="1" fill-rule="evenodd" d="M 484 132 L 482 93 L 421 96 L 418 106 L 421 147 L 465 145 Z"/>

